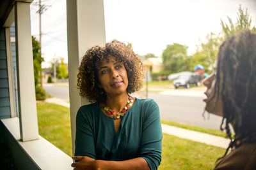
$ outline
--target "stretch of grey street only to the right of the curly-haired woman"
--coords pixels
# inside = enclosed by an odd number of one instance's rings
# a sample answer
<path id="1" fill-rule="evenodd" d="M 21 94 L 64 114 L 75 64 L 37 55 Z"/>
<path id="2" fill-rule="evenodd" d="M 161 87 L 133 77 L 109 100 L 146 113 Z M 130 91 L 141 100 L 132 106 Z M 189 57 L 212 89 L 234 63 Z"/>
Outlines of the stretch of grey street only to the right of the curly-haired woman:
<path id="1" fill-rule="evenodd" d="M 161 118 L 189 125 L 196 125 L 210 129 L 220 129 L 221 117 L 209 115 L 202 116 L 205 103 L 202 96 L 185 96 L 179 94 L 149 93 L 148 97 L 159 104 Z M 208 119 L 209 116 L 209 119 Z"/>

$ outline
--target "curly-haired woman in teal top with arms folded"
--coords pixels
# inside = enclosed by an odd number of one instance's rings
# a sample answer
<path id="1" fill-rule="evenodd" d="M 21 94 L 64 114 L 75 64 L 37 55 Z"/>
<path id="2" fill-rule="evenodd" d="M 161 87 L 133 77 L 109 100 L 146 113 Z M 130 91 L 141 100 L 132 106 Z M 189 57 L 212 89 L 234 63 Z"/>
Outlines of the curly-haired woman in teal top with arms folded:
<path id="1" fill-rule="evenodd" d="M 77 74 L 79 94 L 93 102 L 76 117 L 76 169 L 157 169 L 162 132 L 152 99 L 131 93 L 143 85 L 143 64 L 119 41 L 90 48 Z"/>

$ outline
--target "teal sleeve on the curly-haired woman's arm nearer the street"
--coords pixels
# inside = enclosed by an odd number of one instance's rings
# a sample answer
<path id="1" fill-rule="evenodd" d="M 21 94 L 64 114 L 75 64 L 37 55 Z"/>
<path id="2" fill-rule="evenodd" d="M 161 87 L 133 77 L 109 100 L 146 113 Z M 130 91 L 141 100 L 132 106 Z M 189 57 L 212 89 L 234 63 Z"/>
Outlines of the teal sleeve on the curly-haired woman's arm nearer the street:
<path id="1" fill-rule="evenodd" d="M 150 169 L 157 169 L 161 162 L 163 138 L 159 107 L 154 100 L 150 100 L 143 108 L 146 111 L 144 113 L 140 155 L 148 162 Z"/>

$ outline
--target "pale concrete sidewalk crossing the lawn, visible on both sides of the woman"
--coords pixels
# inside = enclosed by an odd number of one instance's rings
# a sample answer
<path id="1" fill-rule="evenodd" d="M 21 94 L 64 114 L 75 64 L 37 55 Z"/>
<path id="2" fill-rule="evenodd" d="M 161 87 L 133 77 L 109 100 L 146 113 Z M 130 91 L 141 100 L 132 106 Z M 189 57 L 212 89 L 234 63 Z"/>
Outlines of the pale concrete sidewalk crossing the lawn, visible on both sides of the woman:
<path id="1" fill-rule="evenodd" d="M 58 99 L 56 97 L 45 99 L 46 103 L 59 104 L 69 108 L 69 103 L 63 99 Z M 179 138 L 189 139 L 192 141 L 197 141 L 200 143 L 205 143 L 207 145 L 218 146 L 221 148 L 227 148 L 230 143 L 230 139 L 222 138 L 220 136 L 214 136 L 211 134 L 206 134 L 197 131 L 191 131 L 188 129 L 182 129 L 180 127 L 174 127 L 166 124 L 162 124 L 163 133 L 177 136 Z"/>

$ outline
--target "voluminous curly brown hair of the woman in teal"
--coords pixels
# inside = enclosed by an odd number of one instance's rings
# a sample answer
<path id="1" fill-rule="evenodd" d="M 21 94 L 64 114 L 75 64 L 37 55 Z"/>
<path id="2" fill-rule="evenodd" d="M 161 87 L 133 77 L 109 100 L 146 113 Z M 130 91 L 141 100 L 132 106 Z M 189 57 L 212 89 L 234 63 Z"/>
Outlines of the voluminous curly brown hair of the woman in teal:
<path id="1" fill-rule="evenodd" d="M 104 46 L 93 46 L 83 56 L 77 73 L 77 89 L 80 96 L 87 97 L 90 102 L 106 101 L 106 92 L 100 88 L 97 67 L 106 59 L 122 62 L 127 71 L 127 93 L 138 91 L 143 87 L 144 66 L 141 59 L 133 52 L 130 45 L 113 40 Z"/>

